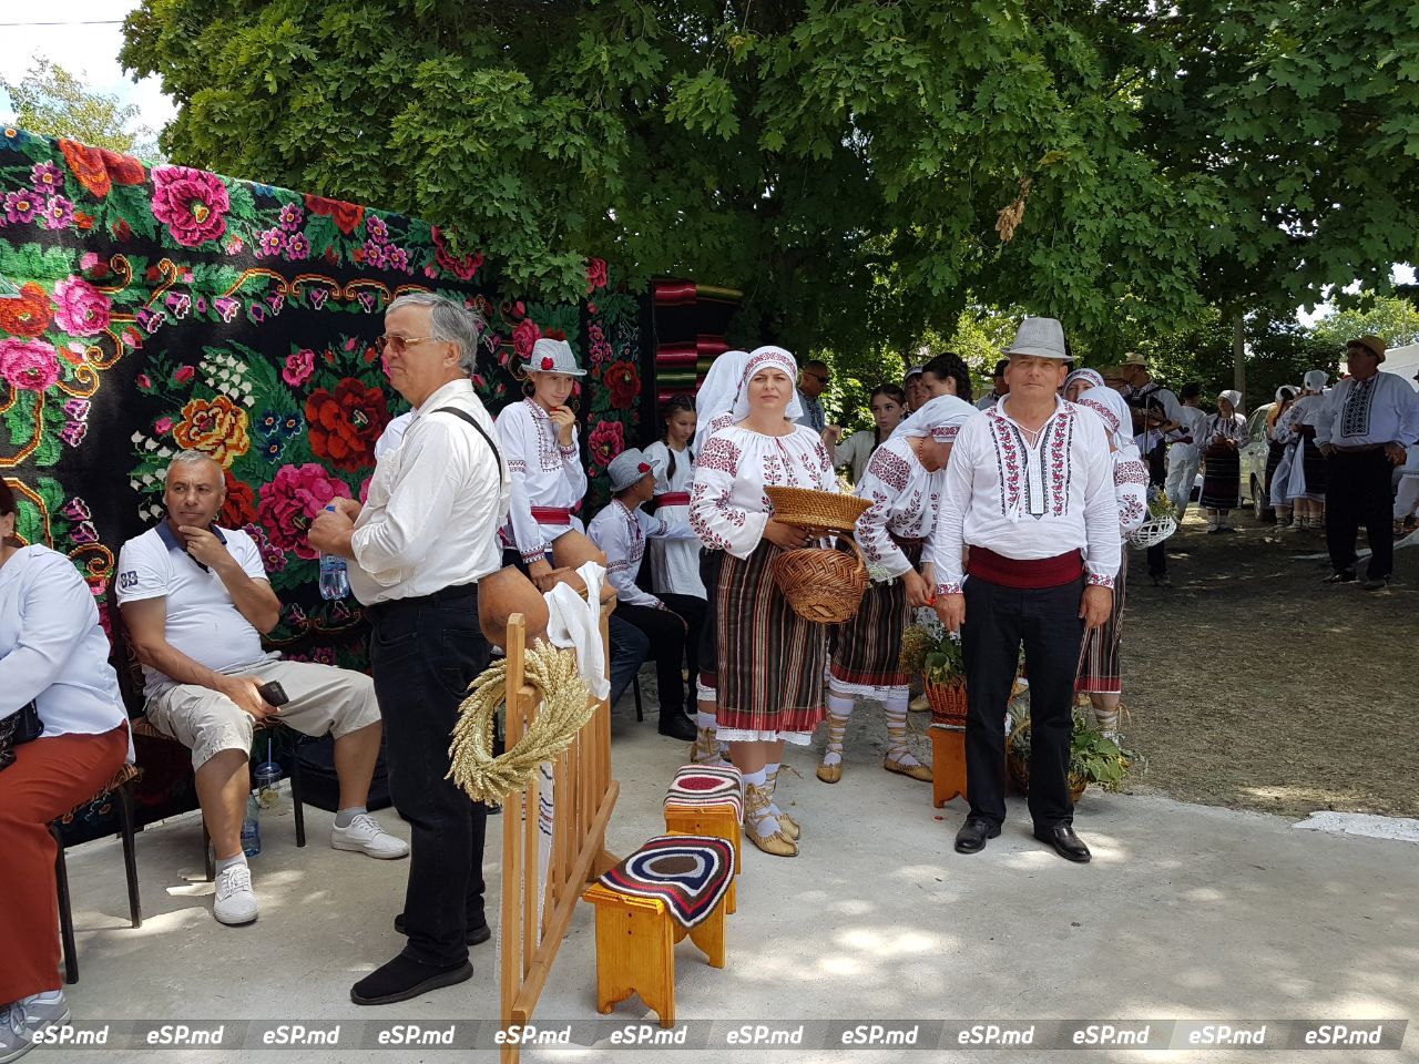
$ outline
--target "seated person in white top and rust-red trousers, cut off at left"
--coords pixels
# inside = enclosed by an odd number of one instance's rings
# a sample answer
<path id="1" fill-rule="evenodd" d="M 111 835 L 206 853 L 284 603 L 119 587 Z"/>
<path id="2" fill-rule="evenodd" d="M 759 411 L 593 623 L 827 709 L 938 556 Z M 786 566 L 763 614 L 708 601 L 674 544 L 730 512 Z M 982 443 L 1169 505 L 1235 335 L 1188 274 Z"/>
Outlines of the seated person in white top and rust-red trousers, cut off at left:
<path id="1" fill-rule="evenodd" d="M 0 769 L 0 1060 L 18 1057 L 70 1016 L 50 823 L 133 759 L 88 584 L 64 555 L 18 546 L 14 522 L 14 494 L 0 481 L 0 715 L 33 701 L 44 728 Z"/>

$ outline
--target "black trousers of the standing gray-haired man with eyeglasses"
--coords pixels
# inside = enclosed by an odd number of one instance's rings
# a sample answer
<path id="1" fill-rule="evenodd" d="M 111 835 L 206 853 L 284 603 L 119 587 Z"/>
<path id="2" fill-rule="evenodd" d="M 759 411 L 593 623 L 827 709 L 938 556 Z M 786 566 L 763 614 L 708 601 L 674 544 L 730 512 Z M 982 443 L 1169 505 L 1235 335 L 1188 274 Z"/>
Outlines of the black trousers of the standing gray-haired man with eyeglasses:
<path id="1" fill-rule="evenodd" d="M 448 587 L 366 613 L 389 793 L 410 826 L 403 955 L 458 965 L 468 959 L 467 929 L 485 921 L 487 807 L 444 779 L 458 705 L 491 651 L 478 627 L 478 589 Z"/>

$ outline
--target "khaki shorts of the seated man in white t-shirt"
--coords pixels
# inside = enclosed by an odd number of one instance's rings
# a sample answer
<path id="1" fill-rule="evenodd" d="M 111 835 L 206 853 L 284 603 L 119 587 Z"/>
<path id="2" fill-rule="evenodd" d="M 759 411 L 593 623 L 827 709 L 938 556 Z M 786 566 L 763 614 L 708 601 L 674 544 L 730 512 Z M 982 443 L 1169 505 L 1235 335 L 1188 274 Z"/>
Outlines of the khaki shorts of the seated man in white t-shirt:
<path id="1" fill-rule="evenodd" d="M 275 680 L 291 701 L 272 716 L 304 735 L 336 739 L 379 721 L 375 682 L 363 672 L 311 661 L 263 661 L 228 675 Z M 226 695 L 196 684 L 179 684 L 148 699 L 148 719 L 192 750 L 200 769 L 221 750 L 251 752 L 255 721 Z"/>

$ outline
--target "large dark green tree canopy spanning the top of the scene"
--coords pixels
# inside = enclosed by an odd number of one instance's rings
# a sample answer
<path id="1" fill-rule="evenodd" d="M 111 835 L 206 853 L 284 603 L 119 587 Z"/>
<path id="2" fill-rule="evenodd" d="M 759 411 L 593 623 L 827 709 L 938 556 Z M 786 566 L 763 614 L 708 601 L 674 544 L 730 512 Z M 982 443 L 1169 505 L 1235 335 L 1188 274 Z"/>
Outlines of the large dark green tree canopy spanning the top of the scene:
<path id="1" fill-rule="evenodd" d="M 427 217 L 548 295 L 589 254 L 735 285 L 735 339 L 795 350 L 972 302 L 1120 349 L 1419 258 L 1413 4 L 143 0 L 126 34 L 182 162 Z"/>

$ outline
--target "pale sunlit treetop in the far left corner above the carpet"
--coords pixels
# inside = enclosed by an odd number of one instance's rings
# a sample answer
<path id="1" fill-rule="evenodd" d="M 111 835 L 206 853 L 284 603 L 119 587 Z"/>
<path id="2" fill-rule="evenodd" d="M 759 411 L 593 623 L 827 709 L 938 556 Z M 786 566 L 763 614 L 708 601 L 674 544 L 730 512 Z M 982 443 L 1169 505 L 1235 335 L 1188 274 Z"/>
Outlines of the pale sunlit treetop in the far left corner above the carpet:
<path id="1" fill-rule="evenodd" d="M 152 157 L 153 131 L 136 123 L 138 108 L 118 96 L 91 92 L 64 67 L 37 60 L 18 82 L 0 82 L 16 122 L 31 133 L 70 138 L 125 155 Z"/>

